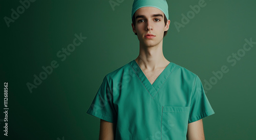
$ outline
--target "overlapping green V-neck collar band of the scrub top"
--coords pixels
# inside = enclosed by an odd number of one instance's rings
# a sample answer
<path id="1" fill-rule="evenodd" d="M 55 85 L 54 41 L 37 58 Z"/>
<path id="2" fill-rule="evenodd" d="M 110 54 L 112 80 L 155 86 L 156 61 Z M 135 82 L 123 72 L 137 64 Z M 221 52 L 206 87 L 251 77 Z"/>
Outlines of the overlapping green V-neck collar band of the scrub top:
<path id="1" fill-rule="evenodd" d="M 141 83 L 143 84 L 143 86 L 146 88 L 146 90 L 148 91 L 148 93 L 151 95 L 153 99 L 157 95 L 158 91 L 160 90 L 164 82 L 173 72 L 174 68 L 177 66 L 177 64 L 170 62 L 164 68 L 162 73 L 157 77 L 155 82 L 151 84 L 135 60 L 131 61 L 129 64 L 133 68 L 135 74 L 138 76 L 139 80 L 141 81 Z"/>

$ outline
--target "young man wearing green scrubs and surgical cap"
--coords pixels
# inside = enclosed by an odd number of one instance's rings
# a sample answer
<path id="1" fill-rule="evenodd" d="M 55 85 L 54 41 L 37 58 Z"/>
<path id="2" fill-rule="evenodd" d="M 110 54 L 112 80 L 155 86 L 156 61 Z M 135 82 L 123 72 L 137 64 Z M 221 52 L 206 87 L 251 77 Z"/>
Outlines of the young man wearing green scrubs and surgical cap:
<path id="1" fill-rule="evenodd" d="M 132 18 L 139 56 L 105 75 L 87 111 L 99 139 L 204 139 L 202 118 L 215 112 L 199 77 L 163 56 L 166 1 L 135 0 Z"/>

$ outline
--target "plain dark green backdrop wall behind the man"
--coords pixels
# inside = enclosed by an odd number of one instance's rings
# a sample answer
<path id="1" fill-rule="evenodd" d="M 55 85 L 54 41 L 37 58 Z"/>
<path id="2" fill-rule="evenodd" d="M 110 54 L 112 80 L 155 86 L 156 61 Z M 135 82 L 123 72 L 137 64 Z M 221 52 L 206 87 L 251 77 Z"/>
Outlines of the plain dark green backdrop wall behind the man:
<path id="1" fill-rule="evenodd" d="M 117 2 L 113 0 L 113 2 Z M 167 60 L 197 74 L 202 83 L 223 74 L 207 91 L 215 114 L 203 119 L 206 139 L 253 139 L 256 136 L 256 48 L 246 51 L 236 65 L 227 61 L 243 49 L 245 39 L 256 41 L 255 1 L 205 1 L 206 6 L 177 31 L 181 14 L 199 0 L 167 1 L 170 28 L 163 41 Z M 98 139 L 100 119 L 86 113 L 103 77 L 137 58 L 139 41 L 132 31 L 133 1 L 35 1 L 10 27 L 21 4 L 3 1 L 1 14 L 1 112 L 4 82 L 8 82 L 9 139 Z M 73 42 L 74 34 L 87 37 L 61 61 L 57 52 Z M 59 66 L 30 93 L 26 83 L 56 60 Z M 4 137 L 4 113 L 0 113 Z M 5 136 L 4 138 L 7 139 Z"/>

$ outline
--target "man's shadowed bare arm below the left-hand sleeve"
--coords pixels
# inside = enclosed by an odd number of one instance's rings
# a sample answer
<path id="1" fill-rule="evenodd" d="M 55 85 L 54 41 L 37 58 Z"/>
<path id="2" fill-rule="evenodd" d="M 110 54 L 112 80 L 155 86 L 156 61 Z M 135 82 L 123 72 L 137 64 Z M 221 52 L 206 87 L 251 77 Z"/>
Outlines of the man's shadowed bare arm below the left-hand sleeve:
<path id="1" fill-rule="evenodd" d="M 99 140 L 114 140 L 116 124 L 100 119 Z"/>

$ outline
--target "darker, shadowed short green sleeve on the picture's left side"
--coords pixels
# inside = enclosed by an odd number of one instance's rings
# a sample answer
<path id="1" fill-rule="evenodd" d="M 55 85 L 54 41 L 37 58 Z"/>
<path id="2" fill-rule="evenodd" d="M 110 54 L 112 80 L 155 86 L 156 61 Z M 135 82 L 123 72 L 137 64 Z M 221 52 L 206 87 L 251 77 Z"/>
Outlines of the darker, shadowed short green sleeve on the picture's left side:
<path id="1" fill-rule="evenodd" d="M 103 78 L 87 113 L 116 124 L 117 113 L 113 104 L 113 94 L 110 89 L 107 75 Z"/>

